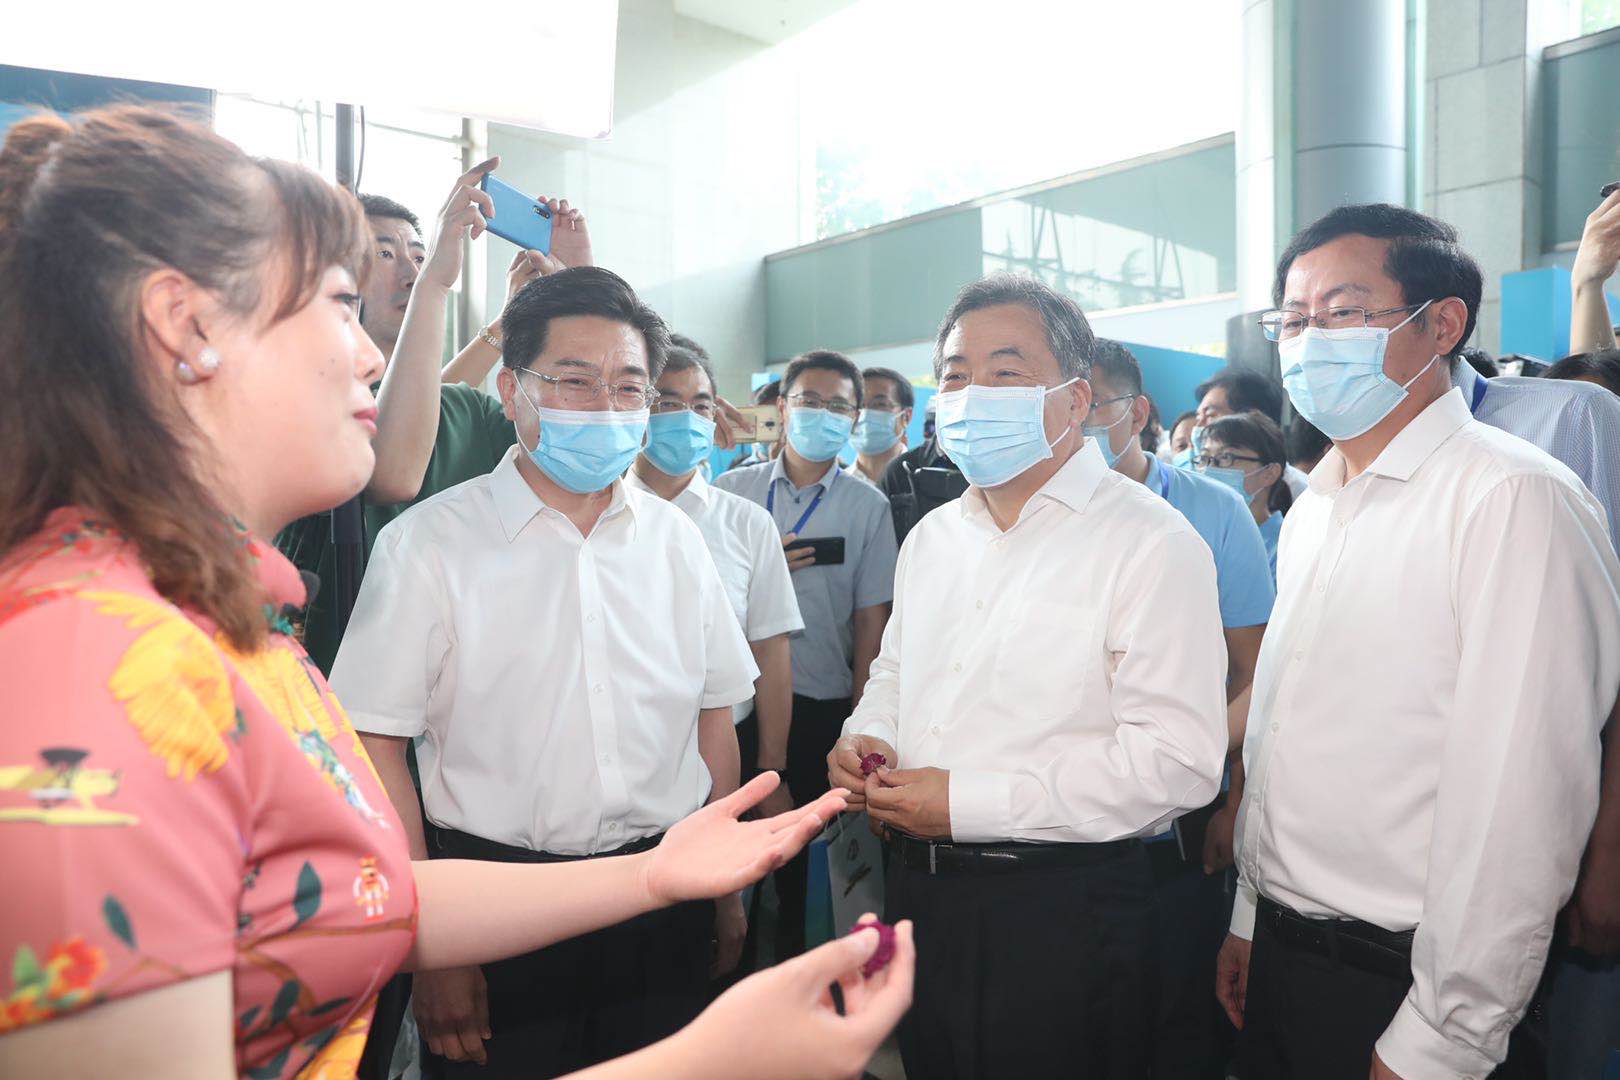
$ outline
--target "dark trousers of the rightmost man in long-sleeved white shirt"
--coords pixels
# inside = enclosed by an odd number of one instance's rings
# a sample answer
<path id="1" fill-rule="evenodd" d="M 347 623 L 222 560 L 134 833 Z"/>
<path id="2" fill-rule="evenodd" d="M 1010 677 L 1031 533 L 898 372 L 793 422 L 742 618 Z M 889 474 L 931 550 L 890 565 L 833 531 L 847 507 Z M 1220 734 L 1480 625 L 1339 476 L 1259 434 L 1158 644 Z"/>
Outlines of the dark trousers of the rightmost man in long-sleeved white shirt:
<path id="1" fill-rule="evenodd" d="M 1285 944 L 1264 918 L 1254 925 L 1249 997 L 1238 1036 L 1243 1080 L 1367 1080 L 1372 1051 L 1413 980 Z M 1521 1025 L 1523 1027 L 1523 1025 Z M 1520 1031 L 1494 1080 L 1542 1075 Z"/>

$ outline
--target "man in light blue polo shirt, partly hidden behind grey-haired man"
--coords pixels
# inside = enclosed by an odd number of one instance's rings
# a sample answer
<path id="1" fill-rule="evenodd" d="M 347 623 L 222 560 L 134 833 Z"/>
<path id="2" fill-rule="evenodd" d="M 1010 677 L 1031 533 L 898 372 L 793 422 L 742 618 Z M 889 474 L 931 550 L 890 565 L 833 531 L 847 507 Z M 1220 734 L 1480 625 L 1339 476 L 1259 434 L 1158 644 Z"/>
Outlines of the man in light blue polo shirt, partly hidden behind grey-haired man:
<path id="1" fill-rule="evenodd" d="M 1149 398 L 1142 368 L 1118 342 L 1098 340 L 1092 358 L 1092 411 L 1085 434 L 1116 473 L 1147 484 L 1181 512 L 1215 555 L 1221 630 L 1226 638 L 1226 703 L 1231 748 L 1243 745 L 1249 683 L 1277 588 L 1254 515 L 1225 484 L 1173 468 L 1142 449 Z M 1215 648 L 1215 643 L 1210 643 Z M 1174 829 L 1149 840 L 1158 889 L 1160 986 L 1153 1023 L 1155 1077 L 1225 1075 L 1230 1027 L 1209 993 L 1230 902 L 1231 831 L 1243 795 L 1243 767 L 1231 750 L 1231 790 Z"/>

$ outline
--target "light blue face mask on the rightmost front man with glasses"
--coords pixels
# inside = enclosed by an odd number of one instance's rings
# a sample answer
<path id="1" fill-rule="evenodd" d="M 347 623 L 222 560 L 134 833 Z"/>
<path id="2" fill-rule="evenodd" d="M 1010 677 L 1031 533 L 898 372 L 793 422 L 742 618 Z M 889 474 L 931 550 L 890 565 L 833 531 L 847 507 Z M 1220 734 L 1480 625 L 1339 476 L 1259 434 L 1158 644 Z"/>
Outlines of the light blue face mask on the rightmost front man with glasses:
<path id="1" fill-rule="evenodd" d="M 1430 356 L 1422 371 L 1406 382 L 1383 374 L 1383 350 L 1390 334 L 1422 314 L 1411 313 L 1393 327 L 1306 327 L 1278 342 L 1283 387 L 1299 415 L 1333 440 L 1354 439 L 1372 431 L 1380 419 L 1406 400 L 1406 389 L 1434 368 Z"/>

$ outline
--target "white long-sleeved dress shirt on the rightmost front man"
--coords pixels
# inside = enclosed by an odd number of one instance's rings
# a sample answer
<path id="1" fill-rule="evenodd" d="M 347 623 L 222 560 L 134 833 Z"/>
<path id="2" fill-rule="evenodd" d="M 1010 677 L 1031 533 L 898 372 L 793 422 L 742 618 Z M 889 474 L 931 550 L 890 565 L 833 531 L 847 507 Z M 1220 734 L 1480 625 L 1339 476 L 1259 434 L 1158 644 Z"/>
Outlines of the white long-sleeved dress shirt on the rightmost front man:
<path id="1" fill-rule="evenodd" d="M 1416 928 L 1379 1040 L 1406 1080 L 1507 1054 L 1597 808 L 1620 563 L 1570 470 L 1450 390 L 1283 520 L 1244 742 L 1233 933 L 1256 891 Z"/>

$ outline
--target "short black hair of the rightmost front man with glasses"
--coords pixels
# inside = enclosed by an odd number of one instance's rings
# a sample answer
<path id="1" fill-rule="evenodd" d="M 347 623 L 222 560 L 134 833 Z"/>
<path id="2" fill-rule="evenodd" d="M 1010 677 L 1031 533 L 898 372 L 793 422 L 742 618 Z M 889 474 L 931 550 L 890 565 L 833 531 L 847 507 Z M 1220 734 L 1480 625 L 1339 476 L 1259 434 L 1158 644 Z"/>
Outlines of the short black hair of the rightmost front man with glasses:
<path id="1" fill-rule="evenodd" d="M 1401 300 L 1421 304 L 1426 300 L 1456 296 L 1468 308 L 1468 322 L 1463 325 L 1463 337 L 1456 338 L 1453 355 L 1473 337 L 1474 322 L 1479 319 L 1479 293 L 1484 288 L 1479 264 L 1463 251 L 1455 228 L 1427 214 L 1390 202 L 1341 206 L 1301 228 L 1288 243 L 1283 257 L 1277 261 L 1272 303 L 1283 306 L 1288 270 L 1294 259 L 1340 236 L 1388 240 L 1383 272 L 1401 287 Z M 1422 319 L 1424 316 L 1418 316 L 1419 325 Z"/>

